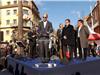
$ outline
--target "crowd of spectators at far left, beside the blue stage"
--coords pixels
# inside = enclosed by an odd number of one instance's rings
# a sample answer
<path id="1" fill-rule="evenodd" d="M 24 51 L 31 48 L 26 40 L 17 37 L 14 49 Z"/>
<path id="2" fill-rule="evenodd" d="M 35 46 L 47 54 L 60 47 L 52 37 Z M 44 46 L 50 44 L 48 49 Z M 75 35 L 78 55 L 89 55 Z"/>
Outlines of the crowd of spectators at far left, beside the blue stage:
<path id="1" fill-rule="evenodd" d="M 15 54 L 17 45 L 15 41 L 10 42 L 0 42 L 0 70 L 7 68 L 7 56 L 10 54 Z"/>

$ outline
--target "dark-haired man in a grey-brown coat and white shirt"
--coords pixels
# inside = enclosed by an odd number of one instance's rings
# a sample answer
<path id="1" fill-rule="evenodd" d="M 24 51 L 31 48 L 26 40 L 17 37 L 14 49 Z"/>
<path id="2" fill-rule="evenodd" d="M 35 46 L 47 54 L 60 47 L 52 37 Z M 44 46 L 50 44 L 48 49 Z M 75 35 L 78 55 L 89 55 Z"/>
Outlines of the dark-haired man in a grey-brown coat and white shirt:
<path id="1" fill-rule="evenodd" d="M 77 28 L 77 46 L 79 49 L 79 58 L 82 59 L 82 50 L 84 57 L 83 59 L 86 60 L 87 58 L 87 50 L 88 50 L 88 36 L 89 30 L 87 26 L 84 25 L 83 20 L 78 20 L 78 28 Z"/>

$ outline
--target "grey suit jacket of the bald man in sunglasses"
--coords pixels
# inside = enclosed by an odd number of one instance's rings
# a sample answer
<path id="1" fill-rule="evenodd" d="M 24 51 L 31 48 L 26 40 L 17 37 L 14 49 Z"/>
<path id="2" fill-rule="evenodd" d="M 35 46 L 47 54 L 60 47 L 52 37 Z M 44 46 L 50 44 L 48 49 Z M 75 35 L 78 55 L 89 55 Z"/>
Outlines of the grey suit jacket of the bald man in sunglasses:
<path id="1" fill-rule="evenodd" d="M 46 27 L 44 28 L 44 23 L 43 21 L 41 21 L 39 23 L 39 37 L 48 37 L 49 38 L 49 34 L 53 32 L 53 27 L 52 27 L 52 23 L 47 21 Z"/>

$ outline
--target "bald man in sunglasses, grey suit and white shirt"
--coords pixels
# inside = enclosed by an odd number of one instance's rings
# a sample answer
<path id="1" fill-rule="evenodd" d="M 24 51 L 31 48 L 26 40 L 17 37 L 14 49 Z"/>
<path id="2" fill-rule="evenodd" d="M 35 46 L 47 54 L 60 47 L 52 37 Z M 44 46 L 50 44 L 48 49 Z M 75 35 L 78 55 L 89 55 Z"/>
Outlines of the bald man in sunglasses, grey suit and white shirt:
<path id="1" fill-rule="evenodd" d="M 46 63 L 49 61 L 49 34 L 53 32 L 52 23 L 48 21 L 48 14 L 45 13 L 43 21 L 39 23 L 39 47 L 40 57 L 42 62 Z"/>

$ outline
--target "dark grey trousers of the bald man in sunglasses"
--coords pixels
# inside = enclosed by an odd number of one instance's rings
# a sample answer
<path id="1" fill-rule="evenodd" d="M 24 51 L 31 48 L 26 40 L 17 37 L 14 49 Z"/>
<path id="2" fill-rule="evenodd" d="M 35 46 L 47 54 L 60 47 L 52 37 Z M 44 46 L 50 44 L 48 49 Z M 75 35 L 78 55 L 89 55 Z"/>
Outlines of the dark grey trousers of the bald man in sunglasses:
<path id="1" fill-rule="evenodd" d="M 49 39 L 42 37 L 39 39 L 39 50 L 42 62 L 49 61 Z"/>

